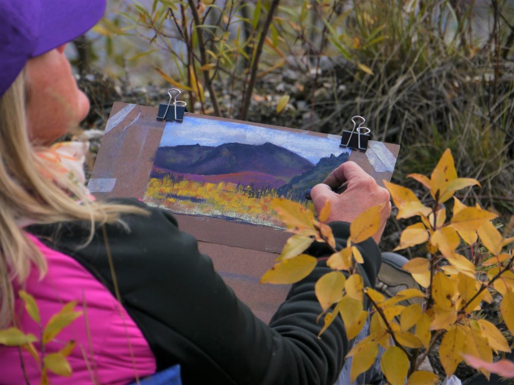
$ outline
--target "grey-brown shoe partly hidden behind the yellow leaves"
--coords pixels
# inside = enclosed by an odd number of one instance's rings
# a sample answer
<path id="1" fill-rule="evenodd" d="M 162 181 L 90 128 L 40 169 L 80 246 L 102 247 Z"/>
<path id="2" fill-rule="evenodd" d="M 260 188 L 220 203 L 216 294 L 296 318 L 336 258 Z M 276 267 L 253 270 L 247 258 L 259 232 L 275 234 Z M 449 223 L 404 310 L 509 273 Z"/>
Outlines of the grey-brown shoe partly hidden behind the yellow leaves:
<path id="1" fill-rule="evenodd" d="M 382 266 L 377 276 L 375 289 L 386 298 L 394 297 L 398 292 L 408 288 L 421 290 L 411 274 L 402 269 L 409 260 L 396 253 L 382 253 Z M 411 298 L 402 301 L 401 304 L 412 305 L 420 303 L 419 298 Z"/>

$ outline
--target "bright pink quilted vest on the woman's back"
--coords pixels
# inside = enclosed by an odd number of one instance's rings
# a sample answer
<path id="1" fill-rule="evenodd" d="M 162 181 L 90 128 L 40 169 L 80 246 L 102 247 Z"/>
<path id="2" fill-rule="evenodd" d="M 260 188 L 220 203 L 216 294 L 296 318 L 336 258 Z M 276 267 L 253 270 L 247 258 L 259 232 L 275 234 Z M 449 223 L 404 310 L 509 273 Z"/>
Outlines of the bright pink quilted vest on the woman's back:
<path id="1" fill-rule="evenodd" d="M 43 280 L 39 280 L 39 274 L 33 268 L 25 285 L 25 291 L 39 306 L 41 325 L 44 327 L 69 301 L 77 300 L 75 311 L 83 312 L 47 345 L 47 352 L 52 353 L 70 340 L 77 342 L 68 356 L 73 370 L 71 377 L 49 372 L 50 383 L 126 384 L 134 381 L 136 376 L 143 378 L 155 373 L 155 357 L 148 343 L 111 292 L 75 259 L 48 248 L 32 236 L 30 238 L 48 263 L 48 273 Z M 21 288 L 15 286 L 15 309 L 21 329 L 40 338 L 39 325 L 30 318 L 17 296 Z M 39 343 L 35 343 L 35 348 L 41 353 Z M 28 352 L 22 352 L 30 383 L 39 383 L 41 370 L 38 364 Z M 0 345 L 0 383 L 25 383 L 19 351 L 15 347 Z"/>

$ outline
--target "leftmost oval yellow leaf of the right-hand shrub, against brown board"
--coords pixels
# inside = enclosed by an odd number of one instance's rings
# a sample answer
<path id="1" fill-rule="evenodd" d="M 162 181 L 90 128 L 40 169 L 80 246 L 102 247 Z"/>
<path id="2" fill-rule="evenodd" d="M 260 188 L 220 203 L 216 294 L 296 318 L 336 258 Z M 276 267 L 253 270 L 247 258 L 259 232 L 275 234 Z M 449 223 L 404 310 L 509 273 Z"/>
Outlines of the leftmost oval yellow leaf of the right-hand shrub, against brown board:
<path id="1" fill-rule="evenodd" d="M 295 283 L 305 278 L 313 271 L 318 260 L 310 255 L 284 259 L 269 269 L 261 277 L 261 283 Z"/>

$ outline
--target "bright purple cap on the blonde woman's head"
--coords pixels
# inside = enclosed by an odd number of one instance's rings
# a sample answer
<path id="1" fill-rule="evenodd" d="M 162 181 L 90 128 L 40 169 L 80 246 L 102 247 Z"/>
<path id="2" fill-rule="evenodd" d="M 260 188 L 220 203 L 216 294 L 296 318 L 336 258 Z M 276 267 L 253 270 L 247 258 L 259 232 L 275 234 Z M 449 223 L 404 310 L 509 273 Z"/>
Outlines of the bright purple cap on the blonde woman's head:
<path id="1" fill-rule="evenodd" d="M 93 27 L 106 0 L 0 0 L 0 97 L 30 57 Z"/>

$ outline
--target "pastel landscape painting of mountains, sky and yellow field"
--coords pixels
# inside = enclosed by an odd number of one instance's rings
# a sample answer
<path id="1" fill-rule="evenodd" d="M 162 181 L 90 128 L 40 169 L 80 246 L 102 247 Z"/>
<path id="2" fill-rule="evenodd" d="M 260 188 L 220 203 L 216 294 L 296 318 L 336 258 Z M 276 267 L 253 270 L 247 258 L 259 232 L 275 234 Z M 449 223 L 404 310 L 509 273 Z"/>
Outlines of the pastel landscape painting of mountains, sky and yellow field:
<path id="1" fill-rule="evenodd" d="M 271 201 L 309 207 L 305 190 L 350 151 L 306 131 L 188 117 L 167 123 L 143 200 L 178 214 L 281 227 Z"/>

